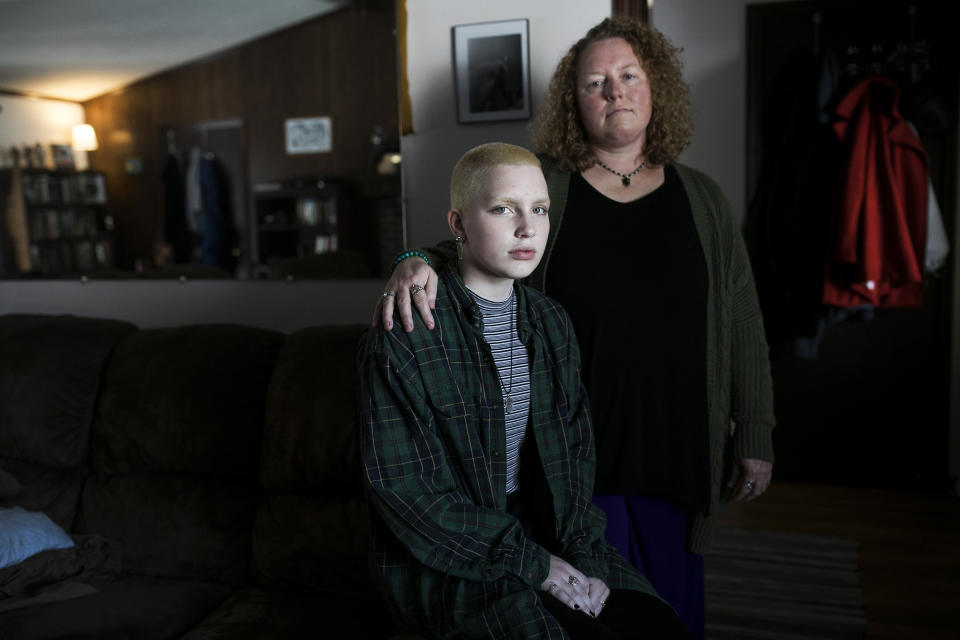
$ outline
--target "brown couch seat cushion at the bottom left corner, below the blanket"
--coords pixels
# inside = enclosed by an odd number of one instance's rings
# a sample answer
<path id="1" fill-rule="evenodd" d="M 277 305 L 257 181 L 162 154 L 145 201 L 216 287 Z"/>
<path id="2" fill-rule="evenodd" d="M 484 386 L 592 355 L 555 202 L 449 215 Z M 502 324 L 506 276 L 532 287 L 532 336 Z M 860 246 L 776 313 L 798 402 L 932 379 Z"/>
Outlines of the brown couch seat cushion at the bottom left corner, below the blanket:
<path id="1" fill-rule="evenodd" d="M 0 638 L 166 640 L 215 609 L 229 588 L 210 583 L 126 577 L 99 593 L 0 615 Z"/>

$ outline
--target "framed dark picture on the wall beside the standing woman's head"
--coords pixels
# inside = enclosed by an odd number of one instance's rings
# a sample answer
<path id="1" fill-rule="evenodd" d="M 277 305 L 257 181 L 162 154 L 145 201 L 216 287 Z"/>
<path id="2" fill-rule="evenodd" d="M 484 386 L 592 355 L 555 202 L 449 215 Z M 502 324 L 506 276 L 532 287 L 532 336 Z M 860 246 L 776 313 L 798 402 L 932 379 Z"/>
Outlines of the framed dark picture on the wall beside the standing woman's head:
<path id="1" fill-rule="evenodd" d="M 530 117 L 529 22 L 478 22 L 453 27 L 460 122 Z"/>

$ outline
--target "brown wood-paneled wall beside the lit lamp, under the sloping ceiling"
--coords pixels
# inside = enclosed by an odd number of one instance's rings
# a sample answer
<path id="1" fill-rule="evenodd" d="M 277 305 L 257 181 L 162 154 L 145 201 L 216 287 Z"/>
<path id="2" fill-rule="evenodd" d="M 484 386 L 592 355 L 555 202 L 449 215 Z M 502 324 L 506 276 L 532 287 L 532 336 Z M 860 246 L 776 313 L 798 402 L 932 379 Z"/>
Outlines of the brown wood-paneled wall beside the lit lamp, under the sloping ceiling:
<path id="1" fill-rule="evenodd" d="M 362 198 L 395 193 L 399 201 L 399 179 L 376 174 L 370 142 L 377 125 L 393 137 L 398 128 L 393 2 L 358 4 L 84 104 L 100 139 L 89 157 L 107 175 L 118 266 L 138 258 L 149 264 L 161 233 L 167 126 L 242 119 L 250 185 L 339 177 Z M 307 116 L 331 117 L 331 153 L 286 154 L 284 120 Z M 125 172 L 128 158 L 141 160 L 142 173 Z M 343 232 L 374 233 L 372 215 L 361 208 Z"/>

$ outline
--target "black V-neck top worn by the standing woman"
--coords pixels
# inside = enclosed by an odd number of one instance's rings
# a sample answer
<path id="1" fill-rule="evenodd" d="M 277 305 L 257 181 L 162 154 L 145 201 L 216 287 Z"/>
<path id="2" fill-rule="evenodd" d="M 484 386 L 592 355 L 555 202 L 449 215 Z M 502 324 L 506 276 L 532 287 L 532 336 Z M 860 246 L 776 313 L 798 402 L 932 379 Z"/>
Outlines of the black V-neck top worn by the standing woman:
<path id="1" fill-rule="evenodd" d="M 573 319 L 597 433 L 597 493 L 710 506 L 707 266 L 673 167 L 632 202 L 570 180 L 546 291 Z"/>

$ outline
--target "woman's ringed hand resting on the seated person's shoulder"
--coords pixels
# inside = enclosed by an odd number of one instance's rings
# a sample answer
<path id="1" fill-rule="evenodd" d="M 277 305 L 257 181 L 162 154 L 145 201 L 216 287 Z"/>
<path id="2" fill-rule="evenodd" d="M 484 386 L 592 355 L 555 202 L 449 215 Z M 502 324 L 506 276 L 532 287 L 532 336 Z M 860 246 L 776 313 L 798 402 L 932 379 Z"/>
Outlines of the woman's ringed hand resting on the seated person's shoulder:
<path id="1" fill-rule="evenodd" d="M 412 301 L 412 305 L 411 305 Z M 393 310 L 396 305 L 404 331 L 413 331 L 415 305 L 427 329 L 433 329 L 433 314 L 437 302 L 437 272 L 422 258 L 407 258 L 397 265 L 383 288 L 383 294 L 373 311 L 373 326 L 383 322 L 387 331 L 393 329 Z"/>

